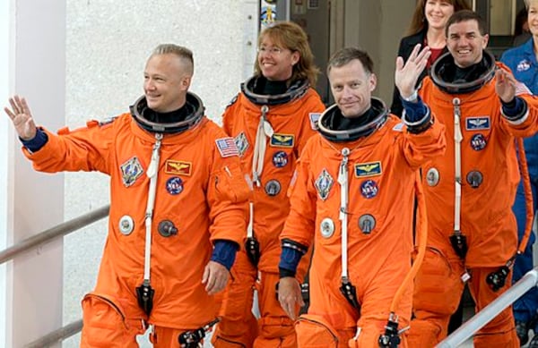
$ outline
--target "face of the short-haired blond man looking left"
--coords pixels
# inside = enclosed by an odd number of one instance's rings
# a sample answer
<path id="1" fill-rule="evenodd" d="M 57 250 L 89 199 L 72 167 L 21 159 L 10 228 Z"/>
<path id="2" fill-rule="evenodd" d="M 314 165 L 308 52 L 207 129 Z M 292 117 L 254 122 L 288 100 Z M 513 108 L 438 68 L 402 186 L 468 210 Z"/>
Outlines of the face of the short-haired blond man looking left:
<path id="1" fill-rule="evenodd" d="M 190 76 L 177 55 L 152 55 L 143 72 L 148 106 L 158 113 L 178 110 L 185 104 Z"/>

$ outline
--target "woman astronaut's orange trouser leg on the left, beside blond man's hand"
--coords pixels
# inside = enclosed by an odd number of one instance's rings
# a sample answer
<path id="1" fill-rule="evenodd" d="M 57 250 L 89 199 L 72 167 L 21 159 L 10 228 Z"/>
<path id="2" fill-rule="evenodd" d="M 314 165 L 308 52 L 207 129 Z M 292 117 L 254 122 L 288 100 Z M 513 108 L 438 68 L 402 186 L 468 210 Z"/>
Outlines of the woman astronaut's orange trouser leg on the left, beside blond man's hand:
<path id="1" fill-rule="evenodd" d="M 212 338 L 216 348 L 252 347 L 257 335 L 257 322 L 252 314 L 256 268 L 244 250 L 237 254 L 231 268 L 231 280 L 222 294 L 221 321 Z"/>

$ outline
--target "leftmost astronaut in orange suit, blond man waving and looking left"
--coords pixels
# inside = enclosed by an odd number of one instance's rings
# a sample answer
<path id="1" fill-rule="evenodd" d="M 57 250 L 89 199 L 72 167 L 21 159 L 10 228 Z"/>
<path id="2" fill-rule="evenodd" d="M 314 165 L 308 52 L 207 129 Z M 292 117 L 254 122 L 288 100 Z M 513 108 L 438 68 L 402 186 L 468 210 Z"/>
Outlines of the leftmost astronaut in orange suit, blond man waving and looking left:
<path id="1" fill-rule="evenodd" d="M 36 170 L 110 176 L 108 238 L 95 290 L 82 300 L 81 347 L 195 347 L 215 321 L 247 226 L 250 189 L 234 141 L 187 89 L 193 55 L 160 45 L 144 70 L 144 96 L 108 123 L 58 134 L 36 127 L 10 98 L 23 152 Z"/>

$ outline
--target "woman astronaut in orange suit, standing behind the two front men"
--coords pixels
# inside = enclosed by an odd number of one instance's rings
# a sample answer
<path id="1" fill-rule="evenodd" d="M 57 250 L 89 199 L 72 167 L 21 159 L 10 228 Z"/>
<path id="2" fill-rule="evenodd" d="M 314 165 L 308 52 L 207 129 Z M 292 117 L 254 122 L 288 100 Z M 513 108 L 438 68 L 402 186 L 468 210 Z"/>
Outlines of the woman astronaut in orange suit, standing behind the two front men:
<path id="1" fill-rule="evenodd" d="M 245 174 L 253 182 L 246 249 L 238 252 L 223 295 L 213 345 L 295 347 L 293 322 L 276 299 L 279 234 L 290 204 L 286 191 L 297 158 L 315 134 L 325 106 L 313 89 L 317 68 L 308 37 L 298 24 L 282 21 L 258 38 L 254 76 L 226 108 L 223 128 L 236 141 Z M 308 258 L 301 264 L 302 277 Z M 256 287 L 261 318 L 252 314 Z"/>

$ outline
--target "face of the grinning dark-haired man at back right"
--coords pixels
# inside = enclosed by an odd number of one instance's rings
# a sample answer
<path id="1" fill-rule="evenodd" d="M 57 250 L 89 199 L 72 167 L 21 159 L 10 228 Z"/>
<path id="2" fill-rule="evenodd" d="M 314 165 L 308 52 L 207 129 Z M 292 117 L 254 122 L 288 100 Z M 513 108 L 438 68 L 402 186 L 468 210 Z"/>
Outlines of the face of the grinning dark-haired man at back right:
<path id="1" fill-rule="evenodd" d="M 478 22 L 460 21 L 448 27 L 447 48 L 460 68 L 482 60 L 482 51 L 488 46 L 488 35 L 480 33 Z"/>

